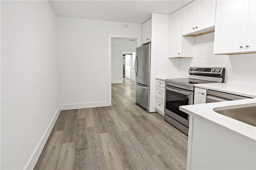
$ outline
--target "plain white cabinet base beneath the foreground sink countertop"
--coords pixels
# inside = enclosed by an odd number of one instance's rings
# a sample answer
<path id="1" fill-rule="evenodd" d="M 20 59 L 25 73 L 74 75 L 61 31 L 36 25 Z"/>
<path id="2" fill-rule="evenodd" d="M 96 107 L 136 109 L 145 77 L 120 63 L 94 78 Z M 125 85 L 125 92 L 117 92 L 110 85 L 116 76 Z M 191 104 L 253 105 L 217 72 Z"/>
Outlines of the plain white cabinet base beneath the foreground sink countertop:
<path id="1" fill-rule="evenodd" d="M 255 139 L 204 117 L 189 116 L 187 170 L 255 170 Z"/>

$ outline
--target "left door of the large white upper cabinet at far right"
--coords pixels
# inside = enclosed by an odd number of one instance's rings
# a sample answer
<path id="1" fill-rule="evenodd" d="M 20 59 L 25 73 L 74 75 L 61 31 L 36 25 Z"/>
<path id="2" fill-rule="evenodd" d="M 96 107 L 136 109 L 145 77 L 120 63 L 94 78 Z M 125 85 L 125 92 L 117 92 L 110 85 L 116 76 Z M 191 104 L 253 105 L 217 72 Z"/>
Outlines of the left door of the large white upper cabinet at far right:
<path id="1" fill-rule="evenodd" d="M 247 24 L 243 22 L 243 0 L 216 2 L 214 54 L 241 53 Z M 241 46 L 241 48 L 240 48 Z"/>

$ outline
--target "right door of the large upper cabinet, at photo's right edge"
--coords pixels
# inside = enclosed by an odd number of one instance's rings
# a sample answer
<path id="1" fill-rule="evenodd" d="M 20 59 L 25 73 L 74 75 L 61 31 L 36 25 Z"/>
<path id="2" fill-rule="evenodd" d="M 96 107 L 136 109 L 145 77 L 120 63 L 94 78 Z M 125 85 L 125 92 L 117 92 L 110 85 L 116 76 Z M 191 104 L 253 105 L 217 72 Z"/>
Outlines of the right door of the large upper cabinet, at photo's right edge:
<path id="1" fill-rule="evenodd" d="M 245 51 L 256 51 L 256 0 L 246 1 L 249 3 L 248 26 L 246 33 Z"/>

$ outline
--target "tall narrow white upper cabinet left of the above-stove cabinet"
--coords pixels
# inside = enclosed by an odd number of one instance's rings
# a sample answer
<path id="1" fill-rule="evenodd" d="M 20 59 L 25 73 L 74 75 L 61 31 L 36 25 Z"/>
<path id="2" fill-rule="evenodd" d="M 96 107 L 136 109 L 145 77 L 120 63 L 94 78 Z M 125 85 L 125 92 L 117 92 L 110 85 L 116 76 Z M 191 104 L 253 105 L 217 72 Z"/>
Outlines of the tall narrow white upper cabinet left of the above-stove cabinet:
<path id="1" fill-rule="evenodd" d="M 180 9 L 170 15 L 168 57 L 192 57 L 193 46 L 194 37 L 182 37 L 182 9 Z"/>

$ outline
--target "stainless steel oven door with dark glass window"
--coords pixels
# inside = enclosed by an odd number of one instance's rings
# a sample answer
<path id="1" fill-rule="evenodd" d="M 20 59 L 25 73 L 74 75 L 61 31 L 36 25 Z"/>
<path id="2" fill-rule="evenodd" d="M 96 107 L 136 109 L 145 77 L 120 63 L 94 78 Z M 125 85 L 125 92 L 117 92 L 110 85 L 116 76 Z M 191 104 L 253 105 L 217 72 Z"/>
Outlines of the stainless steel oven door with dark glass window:
<path id="1" fill-rule="evenodd" d="M 179 107 L 193 104 L 194 92 L 165 86 L 164 113 L 188 127 L 189 115 Z"/>

